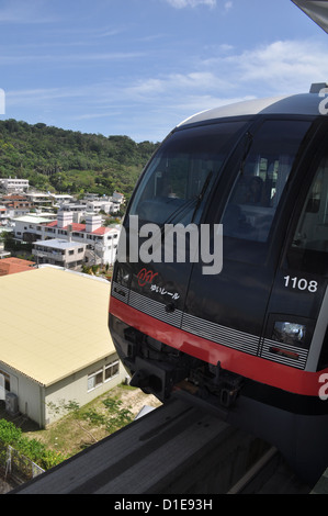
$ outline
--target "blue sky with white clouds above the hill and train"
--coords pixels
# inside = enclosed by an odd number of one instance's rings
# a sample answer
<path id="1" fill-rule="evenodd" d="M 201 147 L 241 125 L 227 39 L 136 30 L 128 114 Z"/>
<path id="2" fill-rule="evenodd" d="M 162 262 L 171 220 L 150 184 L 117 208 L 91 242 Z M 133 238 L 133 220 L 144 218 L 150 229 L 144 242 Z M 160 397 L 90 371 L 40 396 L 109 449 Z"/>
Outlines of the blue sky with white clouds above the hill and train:
<path id="1" fill-rule="evenodd" d="M 160 142 L 326 80 L 328 34 L 291 0 L 0 0 L 0 120 Z"/>

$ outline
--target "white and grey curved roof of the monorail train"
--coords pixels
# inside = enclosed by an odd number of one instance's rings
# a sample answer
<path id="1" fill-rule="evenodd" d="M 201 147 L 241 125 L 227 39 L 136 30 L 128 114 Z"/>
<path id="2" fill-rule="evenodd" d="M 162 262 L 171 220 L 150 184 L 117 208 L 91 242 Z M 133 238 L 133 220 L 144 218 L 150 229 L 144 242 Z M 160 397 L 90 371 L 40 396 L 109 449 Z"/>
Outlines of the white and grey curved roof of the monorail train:
<path id="1" fill-rule="evenodd" d="M 211 110 L 196 113 L 181 122 L 178 127 L 184 125 L 206 122 L 215 119 L 226 119 L 231 116 L 245 116 L 256 114 L 293 114 L 293 115 L 319 115 L 320 102 L 325 94 L 320 90 L 325 89 L 328 94 L 327 83 L 312 85 L 308 93 L 298 93 L 293 96 L 273 97 L 267 99 L 253 99 L 234 104 L 222 105 Z"/>

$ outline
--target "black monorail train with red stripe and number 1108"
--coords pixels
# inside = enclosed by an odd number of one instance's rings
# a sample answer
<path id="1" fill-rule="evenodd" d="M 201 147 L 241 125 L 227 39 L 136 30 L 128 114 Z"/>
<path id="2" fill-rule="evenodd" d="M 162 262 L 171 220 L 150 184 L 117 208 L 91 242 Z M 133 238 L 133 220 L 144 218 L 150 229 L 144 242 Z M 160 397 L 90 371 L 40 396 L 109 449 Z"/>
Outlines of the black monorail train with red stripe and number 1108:
<path id="1" fill-rule="evenodd" d="M 168 135 L 127 207 L 109 315 L 133 385 L 217 410 L 307 481 L 328 467 L 327 93 L 213 109 Z M 178 227 L 193 229 L 184 259 Z"/>

